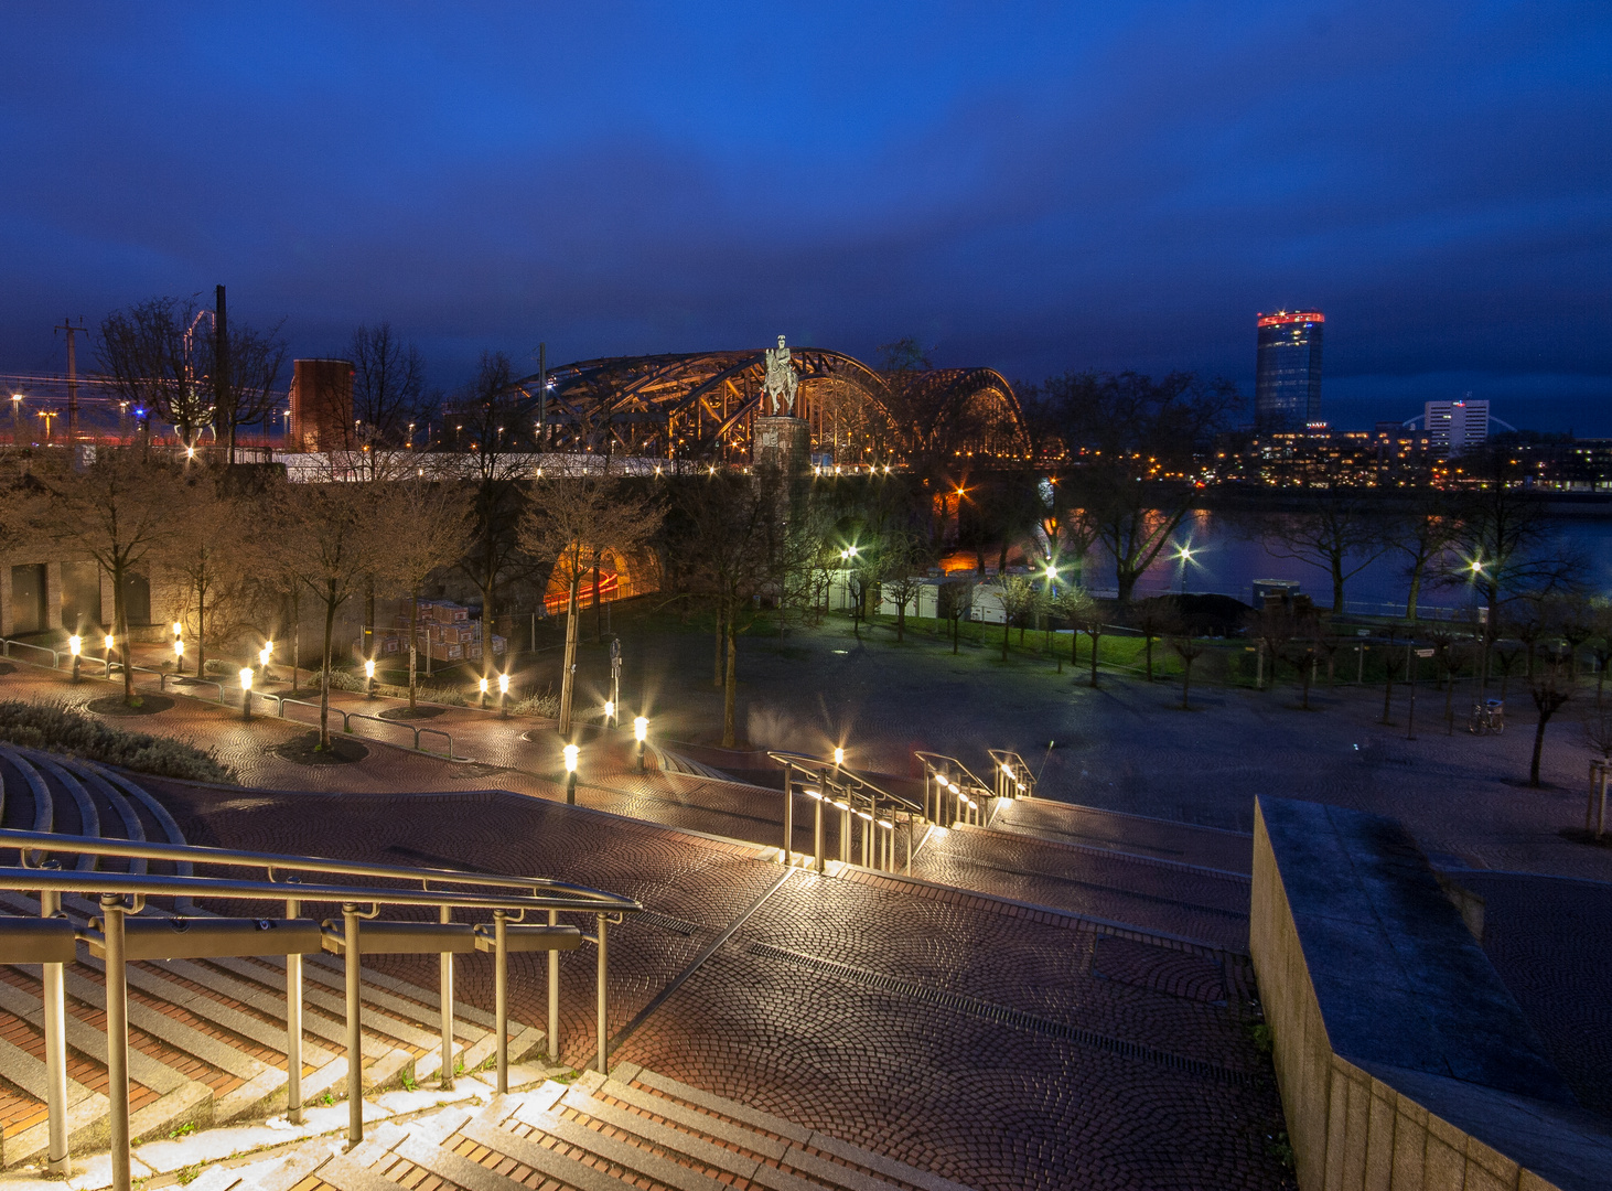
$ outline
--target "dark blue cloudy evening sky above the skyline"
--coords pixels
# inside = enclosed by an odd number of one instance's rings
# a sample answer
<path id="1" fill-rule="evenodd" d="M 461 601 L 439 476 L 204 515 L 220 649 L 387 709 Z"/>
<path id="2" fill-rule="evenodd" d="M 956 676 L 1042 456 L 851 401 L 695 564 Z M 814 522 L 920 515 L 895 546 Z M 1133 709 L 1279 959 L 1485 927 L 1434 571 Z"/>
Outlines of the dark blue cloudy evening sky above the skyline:
<path id="1" fill-rule="evenodd" d="M 6 5 L 0 371 L 229 285 L 458 384 L 791 342 L 1612 434 L 1612 6 Z"/>

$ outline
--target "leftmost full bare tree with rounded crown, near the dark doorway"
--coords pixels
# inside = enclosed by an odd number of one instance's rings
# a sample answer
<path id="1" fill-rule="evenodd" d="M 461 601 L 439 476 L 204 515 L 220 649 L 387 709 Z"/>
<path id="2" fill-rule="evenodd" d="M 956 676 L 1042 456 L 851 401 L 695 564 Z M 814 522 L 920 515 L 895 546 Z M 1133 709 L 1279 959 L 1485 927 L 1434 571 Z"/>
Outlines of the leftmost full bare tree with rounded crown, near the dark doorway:
<path id="1" fill-rule="evenodd" d="M 48 493 L 40 506 L 39 529 L 44 537 L 85 551 L 111 577 L 123 699 L 139 708 L 129 659 L 126 593 L 137 567 L 155 562 L 172 540 L 184 479 L 140 448 L 102 450 L 84 471 L 42 467 L 34 477 Z"/>

